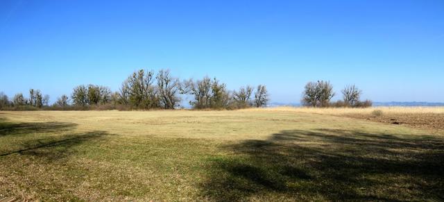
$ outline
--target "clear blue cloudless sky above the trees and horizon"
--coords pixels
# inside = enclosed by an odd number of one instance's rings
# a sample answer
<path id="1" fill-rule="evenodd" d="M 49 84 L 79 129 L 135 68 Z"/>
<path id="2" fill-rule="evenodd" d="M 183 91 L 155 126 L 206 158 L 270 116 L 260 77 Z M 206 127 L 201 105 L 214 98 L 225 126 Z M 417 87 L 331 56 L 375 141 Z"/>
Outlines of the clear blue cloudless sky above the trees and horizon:
<path id="1" fill-rule="evenodd" d="M 444 101 L 444 1 L 0 1 L 9 96 L 118 90 L 139 68 L 264 83 L 279 102 L 321 79 L 373 101 Z"/>

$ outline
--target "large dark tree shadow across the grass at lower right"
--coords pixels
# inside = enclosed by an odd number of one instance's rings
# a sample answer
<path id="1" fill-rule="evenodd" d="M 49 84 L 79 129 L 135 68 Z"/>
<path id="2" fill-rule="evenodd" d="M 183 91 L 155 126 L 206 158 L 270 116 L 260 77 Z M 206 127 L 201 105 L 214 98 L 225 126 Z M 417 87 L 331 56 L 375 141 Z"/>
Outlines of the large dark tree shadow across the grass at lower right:
<path id="1" fill-rule="evenodd" d="M 444 200 L 444 139 L 316 129 L 225 146 L 202 185 L 214 201 Z"/>

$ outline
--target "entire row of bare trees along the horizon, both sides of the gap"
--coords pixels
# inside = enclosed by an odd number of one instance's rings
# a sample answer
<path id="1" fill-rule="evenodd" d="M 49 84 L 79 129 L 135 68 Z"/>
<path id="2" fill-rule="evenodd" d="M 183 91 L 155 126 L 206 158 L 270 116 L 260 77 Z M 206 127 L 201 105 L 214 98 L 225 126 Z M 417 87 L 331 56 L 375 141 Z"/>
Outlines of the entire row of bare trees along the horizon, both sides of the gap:
<path id="1" fill-rule="evenodd" d="M 362 91 L 355 85 L 347 85 L 341 90 L 342 101 L 332 102 L 335 95 L 330 81 L 309 82 L 302 93 L 302 104 L 311 107 L 368 107 L 371 101 L 360 101 Z M 265 85 L 240 87 L 230 91 L 226 84 L 216 78 L 205 76 L 202 79 L 180 81 L 171 76 L 169 70 L 154 71 L 144 69 L 130 74 L 123 81 L 118 92 L 101 85 L 78 85 L 71 96 L 62 95 L 53 103 L 54 108 L 96 108 L 104 109 L 175 109 L 180 107 L 185 95 L 192 97 L 190 106 L 195 109 L 238 109 L 264 107 L 268 103 Z M 12 101 L 6 94 L 0 93 L 0 109 L 7 107 L 29 106 L 42 108 L 49 106 L 49 95 L 42 95 L 40 90 L 29 90 L 29 97 L 22 93 L 15 94 Z"/>

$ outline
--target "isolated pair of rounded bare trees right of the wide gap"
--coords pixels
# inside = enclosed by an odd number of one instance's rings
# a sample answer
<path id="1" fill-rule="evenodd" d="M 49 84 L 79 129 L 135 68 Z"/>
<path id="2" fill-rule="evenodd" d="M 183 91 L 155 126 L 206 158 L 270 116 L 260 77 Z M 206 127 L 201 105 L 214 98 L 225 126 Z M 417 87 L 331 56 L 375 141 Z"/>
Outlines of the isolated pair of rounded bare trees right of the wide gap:
<path id="1" fill-rule="evenodd" d="M 360 101 L 362 91 L 355 85 L 347 85 L 341 90 L 342 101 L 332 102 L 335 95 L 333 85 L 330 81 L 309 82 L 302 92 L 301 103 L 310 107 L 351 107 L 366 108 L 372 106 L 369 100 Z"/>

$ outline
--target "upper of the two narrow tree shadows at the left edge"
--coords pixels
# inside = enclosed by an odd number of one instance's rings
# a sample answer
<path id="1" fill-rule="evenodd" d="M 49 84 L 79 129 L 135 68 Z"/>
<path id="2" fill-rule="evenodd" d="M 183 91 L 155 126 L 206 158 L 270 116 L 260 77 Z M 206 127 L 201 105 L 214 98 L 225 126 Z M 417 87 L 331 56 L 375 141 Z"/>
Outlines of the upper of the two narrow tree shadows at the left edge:
<path id="1" fill-rule="evenodd" d="M 77 124 L 65 122 L 32 122 L 10 123 L 6 119 L 0 120 L 0 137 L 8 135 L 28 135 L 30 133 L 56 133 L 70 131 Z"/>

